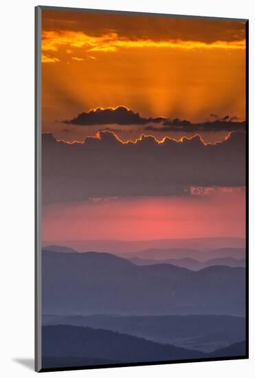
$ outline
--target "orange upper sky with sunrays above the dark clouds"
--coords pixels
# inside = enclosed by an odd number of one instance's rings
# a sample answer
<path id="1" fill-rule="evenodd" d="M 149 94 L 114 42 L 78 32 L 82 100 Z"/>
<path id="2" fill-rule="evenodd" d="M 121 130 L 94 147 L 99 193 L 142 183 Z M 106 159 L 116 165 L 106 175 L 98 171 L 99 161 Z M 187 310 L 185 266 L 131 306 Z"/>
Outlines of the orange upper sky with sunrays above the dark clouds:
<path id="1" fill-rule="evenodd" d="M 146 118 L 245 120 L 241 22 L 43 10 L 42 62 L 43 132 L 58 139 L 95 134 L 102 125 L 60 121 L 97 107 L 124 105 Z M 118 135 L 133 140 L 141 130 L 122 126 Z"/>

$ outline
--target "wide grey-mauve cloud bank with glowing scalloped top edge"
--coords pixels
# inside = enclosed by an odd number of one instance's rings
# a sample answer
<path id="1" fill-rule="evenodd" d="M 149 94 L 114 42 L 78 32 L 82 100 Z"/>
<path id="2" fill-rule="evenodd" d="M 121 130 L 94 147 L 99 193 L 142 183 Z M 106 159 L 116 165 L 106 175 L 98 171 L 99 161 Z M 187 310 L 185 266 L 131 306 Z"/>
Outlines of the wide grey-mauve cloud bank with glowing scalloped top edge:
<path id="1" fill-rule="evenodd" d="M 67 144 L 43 135 L 43 203 L 185 195 L 192 186 L 245 186 L 245 133 L 207 145 L 199 136 L 123 144 L 104 131 Z"/>

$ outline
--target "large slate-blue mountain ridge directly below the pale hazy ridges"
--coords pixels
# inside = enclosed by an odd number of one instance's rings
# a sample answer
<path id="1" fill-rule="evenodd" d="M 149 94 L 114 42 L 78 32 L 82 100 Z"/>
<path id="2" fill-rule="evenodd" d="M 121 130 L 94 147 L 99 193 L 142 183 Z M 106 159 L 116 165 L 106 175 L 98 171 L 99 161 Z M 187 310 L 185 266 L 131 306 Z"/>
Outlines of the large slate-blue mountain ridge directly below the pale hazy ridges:
<path id="1" fill-rule="evenodd" d="M 43 252 L 43 313 L 244 315 L 245 269 L 134 265 L 112 254 Z"/>

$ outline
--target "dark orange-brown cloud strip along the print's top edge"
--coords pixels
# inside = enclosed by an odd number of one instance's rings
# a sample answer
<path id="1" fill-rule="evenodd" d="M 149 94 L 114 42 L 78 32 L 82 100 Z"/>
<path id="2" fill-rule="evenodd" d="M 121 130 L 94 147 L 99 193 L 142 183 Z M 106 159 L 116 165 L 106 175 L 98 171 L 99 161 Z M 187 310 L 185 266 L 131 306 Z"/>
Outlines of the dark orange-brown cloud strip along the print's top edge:
<path id="1" fill-rule="evenodd" d="M 117 33 L 122 38 L 166 41 L 241 41 L 242 22 L 164 17 L 153 14 L 71 12 L 43 10 L 43 30 L 71 30 L 94 36 Z"/>

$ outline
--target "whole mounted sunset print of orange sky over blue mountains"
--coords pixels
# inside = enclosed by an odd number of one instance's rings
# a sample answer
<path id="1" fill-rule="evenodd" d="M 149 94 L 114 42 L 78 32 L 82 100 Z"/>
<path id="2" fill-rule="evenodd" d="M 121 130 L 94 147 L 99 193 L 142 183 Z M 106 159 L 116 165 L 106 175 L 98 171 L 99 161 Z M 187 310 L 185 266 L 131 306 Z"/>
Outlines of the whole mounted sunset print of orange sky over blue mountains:
<path id="1" fill-rule="evenodd" d="M 36 371 L 248 357 L 247 38 L 36 8 Z"/>

